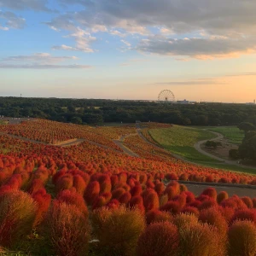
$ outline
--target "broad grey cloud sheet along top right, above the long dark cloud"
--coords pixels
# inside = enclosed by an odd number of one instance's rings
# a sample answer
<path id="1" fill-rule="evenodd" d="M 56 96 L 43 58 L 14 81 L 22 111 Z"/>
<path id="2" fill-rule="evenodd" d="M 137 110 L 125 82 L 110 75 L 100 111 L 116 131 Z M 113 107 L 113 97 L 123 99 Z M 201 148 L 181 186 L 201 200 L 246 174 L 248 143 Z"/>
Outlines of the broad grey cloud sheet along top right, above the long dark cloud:
<path id="1" fill-rule="evenodd" d="M 254 0 L 59 0 L 66 4 L 81 4 L 85 10 L 77 13 L 76 20 L 84 24 L 104 24 L 127 27 L 163 26 L 173 32 L 206 30 L 212 33 L 255 31 Z M 128 30 L 127 30 L 128 31 Z"/>

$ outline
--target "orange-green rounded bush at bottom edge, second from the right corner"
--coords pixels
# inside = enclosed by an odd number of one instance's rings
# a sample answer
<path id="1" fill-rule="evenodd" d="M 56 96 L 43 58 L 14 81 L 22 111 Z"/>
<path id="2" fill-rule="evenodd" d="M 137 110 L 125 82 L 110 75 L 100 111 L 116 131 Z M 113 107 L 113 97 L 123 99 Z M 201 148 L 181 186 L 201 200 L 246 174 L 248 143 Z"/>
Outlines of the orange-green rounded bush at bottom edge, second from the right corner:
<path id="1" fill-rule="evenodd" d="M 208 224 L 192 223 L 179 229 L 180 254 L 189 256 L 224 256 L 226 248 L 218 230 Z"/>

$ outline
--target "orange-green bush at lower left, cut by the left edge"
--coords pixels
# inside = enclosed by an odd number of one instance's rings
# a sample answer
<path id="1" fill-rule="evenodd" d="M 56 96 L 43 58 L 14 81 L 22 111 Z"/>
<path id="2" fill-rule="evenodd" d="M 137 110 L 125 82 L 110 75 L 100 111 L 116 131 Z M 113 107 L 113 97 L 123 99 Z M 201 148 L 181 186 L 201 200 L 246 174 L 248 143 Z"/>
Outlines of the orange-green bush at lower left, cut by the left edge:
<path id="1" fill-rule="evenodd" d="M 32 197 L 20 190 L 0 195 L 0 244 L 15 247 L 32 230 L 37 204 Z"/>

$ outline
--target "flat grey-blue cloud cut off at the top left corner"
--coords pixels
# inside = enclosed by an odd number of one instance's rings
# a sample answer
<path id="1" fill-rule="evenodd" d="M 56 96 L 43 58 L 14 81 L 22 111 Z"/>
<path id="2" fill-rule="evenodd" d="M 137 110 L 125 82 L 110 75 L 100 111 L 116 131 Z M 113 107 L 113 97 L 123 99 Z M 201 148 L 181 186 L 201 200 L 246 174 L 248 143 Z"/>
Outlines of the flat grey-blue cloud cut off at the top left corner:
<path id="1" fill-rule="evenodd" d="M 49 11 L 46 7 L 47 0 L 0 0 L 0 8 L 32 9 L 34 11 Z"/>

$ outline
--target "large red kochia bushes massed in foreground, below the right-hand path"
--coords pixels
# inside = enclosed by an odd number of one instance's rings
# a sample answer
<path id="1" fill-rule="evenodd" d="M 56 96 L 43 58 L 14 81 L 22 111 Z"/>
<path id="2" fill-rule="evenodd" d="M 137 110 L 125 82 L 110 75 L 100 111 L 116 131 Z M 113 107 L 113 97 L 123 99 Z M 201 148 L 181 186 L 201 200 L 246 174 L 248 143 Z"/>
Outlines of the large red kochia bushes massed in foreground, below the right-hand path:
<path id="1" fill-rule="evenodd" d="M 93 165 L 39 157 L 2 155 L 0 168 L 3 252 L 256 253 L 256 199 L 247 196 L 212 188 L 194 195 L 176 181 L 161 182 L 160 173 L 94 172 Z"/>

